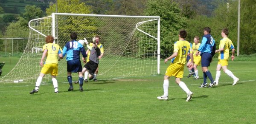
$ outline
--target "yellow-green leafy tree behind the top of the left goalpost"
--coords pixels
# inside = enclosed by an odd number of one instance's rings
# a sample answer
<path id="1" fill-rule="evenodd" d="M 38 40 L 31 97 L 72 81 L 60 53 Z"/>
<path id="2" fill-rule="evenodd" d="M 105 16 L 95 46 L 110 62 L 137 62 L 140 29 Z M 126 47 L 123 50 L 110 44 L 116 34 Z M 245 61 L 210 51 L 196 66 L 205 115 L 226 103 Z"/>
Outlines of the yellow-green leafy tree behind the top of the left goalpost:
<path id="1" fill-rule="evenodd" d="M 85 3 L 80 2 L 80 0 L 58 0 L 58 12 L 59 13 L 74 13 L 74 14 L 90 14 L 90 6 L 85 5 Z M 47 15 L 51 15 L 55 12 L 56 4 L 49 6 L 46 12 Z M 65 19 L 60 19 L 57 16 L 58 22 L 58 39 L 62 39 L 70 35 L 68 31 L 84 32 L 84 30 L 97 30 L 97 27 L 91 26 L 90 23 L 94 23 L 94 20 L 84 17 L 65 17 Z M 83 20 L 83 21 L 80 21 Z M 90 34 L 93 35 L 93 34 Z"/>

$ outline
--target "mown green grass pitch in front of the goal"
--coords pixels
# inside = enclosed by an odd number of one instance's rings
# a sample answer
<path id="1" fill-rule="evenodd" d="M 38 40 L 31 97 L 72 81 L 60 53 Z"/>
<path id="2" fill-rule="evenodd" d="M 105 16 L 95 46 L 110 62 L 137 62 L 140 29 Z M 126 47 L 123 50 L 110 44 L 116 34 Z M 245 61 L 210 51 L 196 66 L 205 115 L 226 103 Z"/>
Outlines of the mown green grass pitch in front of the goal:
<path id="1" fill-rule="evenodd" d="M 7 60 L 4 71 L 9 70 Z M 216 64 L 214 61 L 209 67 L 214 78 Z M 157 76 L 108 80 L 99 76 L 99 82 L 84 84 L 84 92 L 79 92 L 77 84 L 73 92 L 68 92 L 66 78 L 58 78 L 58 94 L 49 82 L 42 83 L 33 95 L 29 91 L 34 82 L 0 83 L 0 123 L 255 123 L 254 61 L 229 62 L 229 70 L 240 79 L 235 86 L 221 71 L 218 86 L 198 88 L 203 82 L 201 70 L 200 79 L 195 80 L 186 77 L 185 68 L 182 81 L 194 92 L 190 102 L 186 102 L 186 93 L 174 83 L 174 77 L 169 80 L 169 100 L 157 100 L 163 95 L 167 66 L 161 61 L 161 74 Z"/>

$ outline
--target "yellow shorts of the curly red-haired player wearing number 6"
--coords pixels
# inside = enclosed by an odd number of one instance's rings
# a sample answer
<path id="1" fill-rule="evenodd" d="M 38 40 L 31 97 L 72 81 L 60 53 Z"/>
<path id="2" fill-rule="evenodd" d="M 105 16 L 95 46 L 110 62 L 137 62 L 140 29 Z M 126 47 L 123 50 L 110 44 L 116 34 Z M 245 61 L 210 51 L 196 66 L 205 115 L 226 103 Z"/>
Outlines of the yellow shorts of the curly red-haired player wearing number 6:
<path id="1" fill-rule="evenodd" d="M 58 64 L 44 64 L 41 73 L 48 74 L 51 73 L 52 76 L 58 76 Z"/>

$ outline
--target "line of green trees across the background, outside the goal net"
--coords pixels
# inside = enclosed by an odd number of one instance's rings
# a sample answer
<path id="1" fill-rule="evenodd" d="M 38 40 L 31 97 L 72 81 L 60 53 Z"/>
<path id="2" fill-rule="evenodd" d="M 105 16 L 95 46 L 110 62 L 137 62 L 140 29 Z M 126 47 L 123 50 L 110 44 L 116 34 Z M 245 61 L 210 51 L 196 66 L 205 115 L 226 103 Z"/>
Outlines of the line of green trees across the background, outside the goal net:
<path id="1" fill-rule="evenodd" d="M 237 46 L 238 0 L 212 0 L 214 11 L 203 0 L 58 0 L 59 13 L 145 15 L 160 16 L 161 57 L 170 56 L 173 43 L 178 40 L 178 31 L 186 29 L 186 40 L 193 42 L 202 37 L 204 27 L 212 29 L 217 46 L 221 30 L 230 31 L 229 38 Z M 228 4 L 227 4 L 228 3 Z M 256 53 L 256 0 L 241 0 L 240 54 Z M 1 12 L 0 8 L 0 12 Z M 25 12 L 6 23 L 0 17 L 0 37 L 29 37 L 29 20 L 49 16 L 56 12 L 56 4 L 50 3 L 46 12 L 38 6 L 26 6 Z M 3 12 L 2 12 L 3 13 Z M 5 26 L 7 25 L 7 26 Z M 3 41 L 0 40 L 0 46 Z M 0 47 L 2 48 L 2 47 Z M 0 50 L 1 51 L 1 50 Z"/>

